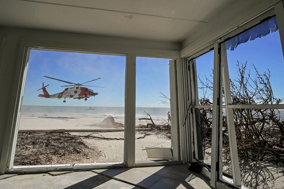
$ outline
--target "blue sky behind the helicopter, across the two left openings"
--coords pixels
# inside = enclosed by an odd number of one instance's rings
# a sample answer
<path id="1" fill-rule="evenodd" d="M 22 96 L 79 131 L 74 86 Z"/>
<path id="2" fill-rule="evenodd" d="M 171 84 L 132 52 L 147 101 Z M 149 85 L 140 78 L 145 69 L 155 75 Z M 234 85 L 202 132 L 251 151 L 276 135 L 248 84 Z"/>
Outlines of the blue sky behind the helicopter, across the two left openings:
<path id="1" fill-rule="evenodd" d="M 125 56 L 31 50 L 23 105 L 124 107 Z M 159 92 L 170 97 L 169 59 L 137 57 L 136 107 L 169 107 L 161 103 Z M 69 85 L 49 76 L 72 83 L 84 83 L 99 93 L 87 101 L 37 97 L 44 85 L 49 94 L 62 92 Z"/>

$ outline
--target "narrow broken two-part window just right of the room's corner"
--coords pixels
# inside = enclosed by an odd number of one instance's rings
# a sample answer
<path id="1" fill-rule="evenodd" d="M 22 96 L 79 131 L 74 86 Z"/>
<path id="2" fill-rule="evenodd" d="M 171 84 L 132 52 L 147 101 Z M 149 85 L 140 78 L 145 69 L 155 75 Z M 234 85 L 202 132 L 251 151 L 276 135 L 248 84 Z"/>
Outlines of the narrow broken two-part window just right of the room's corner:
<path id="1" fill-rule="evenodd" d="M 194 58 L 190 65 L 190 85 L 193 105 L 212 105 L 213 50 Z M 211 162 L 212 108 L 194 108 L 193 137 L 195 157 L 205 164 Z"/>

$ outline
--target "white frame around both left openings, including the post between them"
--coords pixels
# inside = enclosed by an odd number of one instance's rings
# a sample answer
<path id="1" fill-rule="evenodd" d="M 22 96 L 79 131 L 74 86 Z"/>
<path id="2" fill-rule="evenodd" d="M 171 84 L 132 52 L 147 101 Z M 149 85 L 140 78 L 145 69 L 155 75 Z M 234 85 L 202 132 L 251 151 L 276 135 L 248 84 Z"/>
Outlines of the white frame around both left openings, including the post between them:
<path id="1" fill-rule="evenodd" d="M 2 43 L 4 44 L 4 43 Z M 3 45 L 2 45 L 3 46 Z M 25 86 L 25 78 L 28 66 L 28 56 L 30 49 L 39 50 L 58 50 L 67 52 L 96 53 L 106 55 L 126 56 L 125 67 L 125 140 L 124 140 L 124 161 L 114 163 L 90 163 L 90 164 L 63 164 L 63 165 L 35 165 L 18 166 L 13 168 L 14 151 L 17 141 L 18 122 L 20 118 L 20 105 Z M 1 50 L 2 52 L 2 50 Z M 136 56 L 147 56 L 155 58 L 179 58 L 179 54 L 174 51 L 154 51 L 151 49 L 139 50 L 117 50 L 111 48 L 99 48 L 89 44 L 74 44 L 63 42 L 50 42 L 44 40 L 22 40 L 20 43 L 19 56 L 16 66 L 15 80 L 13 85 L 12 100 L 10 103 L 9 118 L 7 123 L 11 124 L 6 130 L 4 143 L 9 141 L 10 145 L 4 146 L 1 154 L 1 167 L 6 167 L 5 172 L 37 172 L 46 170 L 73 170 L 73 169 L 94 169 L 108 167 L 135 167 L 135 166 L 153 166 L 165 164 L 182 164 L 178 161 L 165 162 L 146 162 L 144 164 L 135 164 L 135 68 Z M 134 123 L 134 124 L 133 124 Z M 11 130 L 10 130 L 11 129 Z M 179 138 L 177 139 L 179 140 Z M 131 142 L 134 141 L 134 142 Z M 180 149 L 180 148 L 178 148 Z"/>

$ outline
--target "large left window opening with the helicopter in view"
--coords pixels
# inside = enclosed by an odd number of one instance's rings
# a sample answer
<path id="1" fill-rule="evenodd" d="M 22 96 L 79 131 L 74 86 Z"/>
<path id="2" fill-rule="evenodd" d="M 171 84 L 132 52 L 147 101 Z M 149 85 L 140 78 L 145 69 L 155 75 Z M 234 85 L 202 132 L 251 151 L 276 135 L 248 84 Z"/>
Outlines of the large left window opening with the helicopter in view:
<path id="1" fill-rule="evenodd" d="M 123 162 L 125 63 L 31 50 L 14 167 Z"/>

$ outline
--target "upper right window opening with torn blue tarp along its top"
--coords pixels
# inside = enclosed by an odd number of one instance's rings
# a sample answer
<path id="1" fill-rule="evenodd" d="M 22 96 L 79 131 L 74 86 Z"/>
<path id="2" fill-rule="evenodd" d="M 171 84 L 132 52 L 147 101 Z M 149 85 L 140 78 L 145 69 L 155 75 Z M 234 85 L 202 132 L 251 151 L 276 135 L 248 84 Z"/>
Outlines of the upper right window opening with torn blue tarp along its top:
<path id="1" fill-rule="evenodd" d="M 283 51 L 276 17 L 225 43 L 233 104 L 282 104 Z M 226 57 L 227 56 L 227 57 Z"/>

